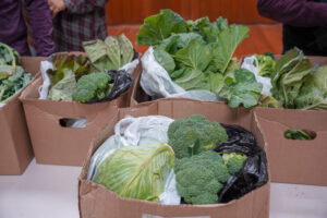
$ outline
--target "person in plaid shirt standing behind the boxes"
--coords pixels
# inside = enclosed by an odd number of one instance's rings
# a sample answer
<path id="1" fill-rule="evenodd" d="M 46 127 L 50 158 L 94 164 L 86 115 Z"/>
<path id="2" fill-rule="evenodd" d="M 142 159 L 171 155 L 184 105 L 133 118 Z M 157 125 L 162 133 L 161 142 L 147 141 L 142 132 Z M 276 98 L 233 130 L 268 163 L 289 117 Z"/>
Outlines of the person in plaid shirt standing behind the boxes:
<path id="1" fill-rule="evenodd" d="M 107 37 L 107 0 L 48 0 L 56 51 L 83 51 L 83 41 Z"/>

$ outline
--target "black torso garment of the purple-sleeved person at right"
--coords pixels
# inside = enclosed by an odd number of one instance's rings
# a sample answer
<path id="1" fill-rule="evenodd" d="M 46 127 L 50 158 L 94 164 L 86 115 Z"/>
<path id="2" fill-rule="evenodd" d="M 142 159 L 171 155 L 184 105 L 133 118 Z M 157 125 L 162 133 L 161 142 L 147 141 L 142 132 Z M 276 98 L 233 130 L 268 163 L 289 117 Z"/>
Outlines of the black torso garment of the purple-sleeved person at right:
<path id="1" fill-rule="evenodd" d="M 327 3 L 327 0 L 311 0 Z M 327 56 L 327 26 L 298 27 L 283 25 L 284 50 L 298 47 L 307 56 Z"/>

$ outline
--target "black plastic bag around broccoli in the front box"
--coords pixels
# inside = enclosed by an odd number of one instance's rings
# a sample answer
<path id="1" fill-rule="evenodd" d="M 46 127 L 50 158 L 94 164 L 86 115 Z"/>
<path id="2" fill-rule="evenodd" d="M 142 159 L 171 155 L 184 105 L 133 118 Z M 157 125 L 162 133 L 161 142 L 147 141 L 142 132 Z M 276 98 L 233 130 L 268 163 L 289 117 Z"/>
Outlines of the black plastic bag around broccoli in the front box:
<path id="1" fill-rule="evenodd" d="M 247 159 L 243 168 L 231 175 L 218 193 L 219 203 L 228 203 L 267 183 L 268 168 L 265 150 L 256 143 L 255 136 L 239 125 L 222 124 L 229 141 L 215 148 L 217 153 L 243 153 Z"/>

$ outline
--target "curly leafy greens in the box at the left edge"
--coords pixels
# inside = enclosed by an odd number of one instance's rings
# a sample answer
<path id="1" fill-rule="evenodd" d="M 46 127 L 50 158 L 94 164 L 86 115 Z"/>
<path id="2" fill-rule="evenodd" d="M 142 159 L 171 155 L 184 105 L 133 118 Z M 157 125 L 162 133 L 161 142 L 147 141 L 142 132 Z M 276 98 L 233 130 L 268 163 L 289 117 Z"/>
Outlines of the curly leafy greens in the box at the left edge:
<path id="1" fill-rule="evenodd" d="M 21 57 L 13 48 L 0 43 L 0 102 L 25 87 L 32 80 L 21 64 Z"/>

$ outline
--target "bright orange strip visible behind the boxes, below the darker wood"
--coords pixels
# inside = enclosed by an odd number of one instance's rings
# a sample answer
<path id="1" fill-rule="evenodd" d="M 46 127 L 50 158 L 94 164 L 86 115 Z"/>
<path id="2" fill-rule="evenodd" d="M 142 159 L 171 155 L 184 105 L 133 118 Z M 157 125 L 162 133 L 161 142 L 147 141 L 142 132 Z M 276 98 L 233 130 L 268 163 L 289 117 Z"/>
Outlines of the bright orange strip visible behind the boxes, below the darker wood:
<path id="1" fill-rule="evenodd" d="M 250 37 L 246 38 L 237 49 L 234 56 L 242 57 L 253 53 L 280 53 L 282 49 L 282 26 L 281 24 L 256 24 L 247 25 L 250 27 Z M 108 26 L 109 35 L 119 35 L 124 33 L 134 44 L 138 52 L 144 53 L 147 46 L 135 45 L 138 25 L 117 25 Z"/>

